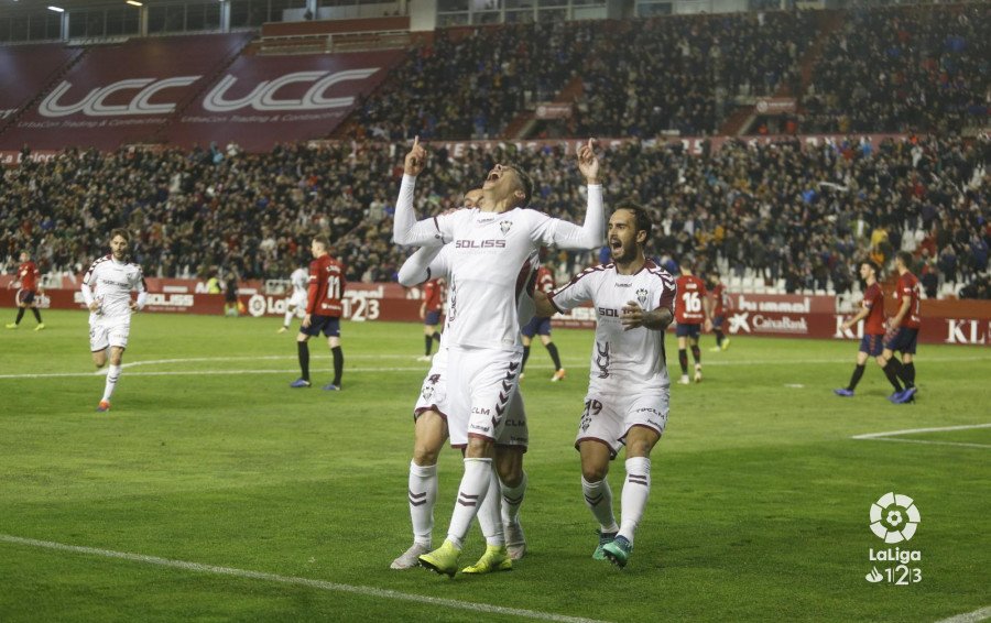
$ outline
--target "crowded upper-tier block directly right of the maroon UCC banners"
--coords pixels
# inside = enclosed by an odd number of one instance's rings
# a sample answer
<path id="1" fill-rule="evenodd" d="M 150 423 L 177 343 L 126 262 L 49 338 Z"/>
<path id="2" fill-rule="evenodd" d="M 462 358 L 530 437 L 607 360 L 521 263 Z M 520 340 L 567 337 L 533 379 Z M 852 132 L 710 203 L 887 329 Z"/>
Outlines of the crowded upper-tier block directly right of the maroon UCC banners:
<path id="1" fill-rule="evenodd" d="M 553 99 L 586 61 L 598 22 L 444 29 L 410 52 L 346 125 L 375 140 L 486 139 Z"/>

